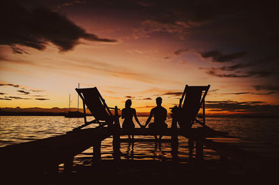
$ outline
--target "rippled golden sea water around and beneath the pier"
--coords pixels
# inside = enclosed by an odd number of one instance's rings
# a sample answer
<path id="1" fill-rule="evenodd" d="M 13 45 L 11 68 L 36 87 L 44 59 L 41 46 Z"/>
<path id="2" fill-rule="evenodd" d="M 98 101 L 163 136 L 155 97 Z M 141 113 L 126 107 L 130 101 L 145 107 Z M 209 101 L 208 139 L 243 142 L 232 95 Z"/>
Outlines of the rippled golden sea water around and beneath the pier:
<path id="1" fill-rule="evenodd" d="M 139 120 L 144 124 L 146 118 L 139 117 Z M 62 116 L 0 116 L 0 147 L 66 134 L 66 131 L 70 131 L 83 123 L 83 118 L 63 118 Z M 167 119 L 169 127 L 170 123 L 171 119 Z M 206 124 L 218 131 L 228 131 L 230 135 L 239 136 L 243 140 L 270 145 L 274 148 L 279 147 L 279 123 L 276 119 L 207 118 Z M 153 137 L 135 136 L 135 138 Z M 179 138 L 178 152 L 181 161 L 187 161 L 189 158 L 187 142 L 186 138 Z M 135 145 L 121 143 L 121 152 L 123 159 L 169 160 L 172 158 L 170 143 L 162 143 L 161 147 L 156 146 L 153 142 L 140 142 L 135 143 Z M 193 152 L 195 154 L 195 150 Z M 91 160 L 91 155 L 92 148 L 89 148 L 75 157 L 75 163 L 86 165 Z M 204 150 L 204 157 L 205 159 L 216 159 L 218 154 L 212 150 Z M 107 138 L 102 142 L 102 158 L 112 159 L 112 138 Z"/>

